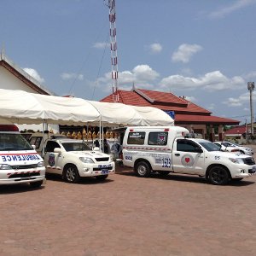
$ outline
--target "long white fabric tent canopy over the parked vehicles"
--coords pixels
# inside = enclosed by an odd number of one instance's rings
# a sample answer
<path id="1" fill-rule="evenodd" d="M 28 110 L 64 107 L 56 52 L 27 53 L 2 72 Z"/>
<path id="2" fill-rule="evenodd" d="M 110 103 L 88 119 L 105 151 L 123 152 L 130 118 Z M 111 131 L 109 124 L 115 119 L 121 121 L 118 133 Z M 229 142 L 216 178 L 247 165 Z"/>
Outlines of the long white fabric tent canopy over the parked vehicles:
<path id="1" fill-rule="evenodd" d="M 173 125 L 164 111 L 122 103 L 93 102 L 76 97 L 45 96 L 23 90 L 0 89 L 0 119 L 15 124 L 57 125 Z"/>

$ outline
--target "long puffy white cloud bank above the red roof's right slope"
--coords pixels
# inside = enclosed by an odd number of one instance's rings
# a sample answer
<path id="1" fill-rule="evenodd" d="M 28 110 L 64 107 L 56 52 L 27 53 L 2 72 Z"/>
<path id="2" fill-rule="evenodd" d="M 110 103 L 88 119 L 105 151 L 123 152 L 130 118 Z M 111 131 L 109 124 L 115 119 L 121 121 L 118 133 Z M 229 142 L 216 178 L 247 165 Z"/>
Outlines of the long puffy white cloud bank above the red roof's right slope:
<path id="1" fill-rule="evenodd" d="M 169 90 L 197 90 L 198 88 L 208 91 L 237 90 L 245 84 L 243 78 L 236 76 L 229 79 L 220 71 L 206 73 L 198 78 L 172 75 L 160 81 L 161 88 Z"/>

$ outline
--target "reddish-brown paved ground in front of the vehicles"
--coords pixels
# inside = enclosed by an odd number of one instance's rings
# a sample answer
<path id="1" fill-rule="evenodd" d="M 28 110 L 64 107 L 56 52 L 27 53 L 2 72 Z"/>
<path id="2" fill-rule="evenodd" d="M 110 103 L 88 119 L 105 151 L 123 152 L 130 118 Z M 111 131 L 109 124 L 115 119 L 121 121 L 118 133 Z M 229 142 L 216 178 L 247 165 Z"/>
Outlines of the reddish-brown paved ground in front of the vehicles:
<path id="1" fill-rule="evenodd" d="M 256 176 L 136 177 L 0 187 L 0 255 L 255 255 Z"/>

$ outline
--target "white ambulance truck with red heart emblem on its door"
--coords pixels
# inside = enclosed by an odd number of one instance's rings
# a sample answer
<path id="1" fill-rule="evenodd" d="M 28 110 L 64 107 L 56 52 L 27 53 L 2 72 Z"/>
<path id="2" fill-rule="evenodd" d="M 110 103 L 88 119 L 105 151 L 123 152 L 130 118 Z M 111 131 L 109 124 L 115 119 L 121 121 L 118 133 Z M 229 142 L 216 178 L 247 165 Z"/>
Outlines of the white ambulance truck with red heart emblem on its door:
<path id="1" fill-rule="evenodd" d="M 206 177 L 216 185 L 255 174 L 252 156 L 222 152 L 207 140 L 185 138 L 188 133 L 178 126 L 128 127 L 123 141 L 123 164 L 133 167 L 139 177 L 148 177 L 151 172 L 177 172 Z"/>

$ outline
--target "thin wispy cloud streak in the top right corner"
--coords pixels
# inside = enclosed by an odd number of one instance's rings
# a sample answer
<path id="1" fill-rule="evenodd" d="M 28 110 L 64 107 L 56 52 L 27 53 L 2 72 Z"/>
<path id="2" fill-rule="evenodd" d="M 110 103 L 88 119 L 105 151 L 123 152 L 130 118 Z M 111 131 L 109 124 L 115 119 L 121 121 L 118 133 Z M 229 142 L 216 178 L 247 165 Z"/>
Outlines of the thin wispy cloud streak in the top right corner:
<path id="1" fill-rule="evenodd" d="M 213 19 L 222 18 L 225 15 L 230 15 L 238 9 L 245 8 L 255 3 L 255 0 L 237 0 L 235 3 L 231 3 L 230 5 L 225 6 L 222 9 L 218 9 L 217 11 L 210 13 L 209 17 Z"/>

